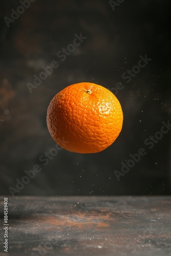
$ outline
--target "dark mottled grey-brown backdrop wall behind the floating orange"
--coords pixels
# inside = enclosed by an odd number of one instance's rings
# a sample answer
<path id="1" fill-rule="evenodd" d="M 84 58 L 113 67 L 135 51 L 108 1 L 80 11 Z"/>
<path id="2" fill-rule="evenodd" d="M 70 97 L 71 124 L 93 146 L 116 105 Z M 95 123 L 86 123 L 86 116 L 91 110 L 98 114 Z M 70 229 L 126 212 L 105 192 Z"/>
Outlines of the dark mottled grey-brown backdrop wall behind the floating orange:
<path id="1" fill-rule="evenodd" d="M 9 187 L 35 164 L 41 171 L 15 196 L 170 194 L 171 131 L 151 150 L 144 145 L 162 121 L 171 120 L 169 1 L 125 0 L 113 11 L 109 1 L 36 0 L 8 28 L 4 17 L 19 5 L 1 3 L 0 194 L 11 195 Z M 56 54 L 72 44 L 75 33 L 87 39 L 62 62 Z M 152 60 L 126 83 L 122 74 L 145 54 Z M 54 59 L 59 67 L 30 93 L 26 83 Z M 55 147 L 46 124 L 50 100 L 82 81 L 110 90 L 122 82 L 122 132 L 101 153 L 62 149 L 44 166 L 39 157 Z M 118 181 L 114 170 L 141 147 L 146 155 Z"/>

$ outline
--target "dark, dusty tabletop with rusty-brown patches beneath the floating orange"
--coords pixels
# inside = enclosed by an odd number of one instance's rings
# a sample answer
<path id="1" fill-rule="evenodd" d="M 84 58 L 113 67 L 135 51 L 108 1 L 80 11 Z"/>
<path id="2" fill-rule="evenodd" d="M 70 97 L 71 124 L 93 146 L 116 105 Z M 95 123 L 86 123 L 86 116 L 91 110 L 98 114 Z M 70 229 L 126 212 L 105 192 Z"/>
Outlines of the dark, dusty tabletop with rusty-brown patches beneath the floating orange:
<path id="1" fill-rule="evenodd" d="M 170 213 L 169 196 L 8 197 L 8 255 L 171 255 Z"/>

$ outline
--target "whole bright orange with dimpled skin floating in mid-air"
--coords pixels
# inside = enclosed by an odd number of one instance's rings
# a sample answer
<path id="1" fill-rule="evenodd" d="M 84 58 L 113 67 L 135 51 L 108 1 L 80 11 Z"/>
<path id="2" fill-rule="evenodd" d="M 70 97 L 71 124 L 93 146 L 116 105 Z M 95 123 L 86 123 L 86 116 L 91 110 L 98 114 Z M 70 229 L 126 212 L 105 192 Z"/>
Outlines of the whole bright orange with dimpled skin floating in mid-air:
<path id="1" fill-rule="evenodd" d="M 108 89 L 81 82 L 66 87 L 51 100 L 48 130 L 57 144 L 76 153 L 97 153 L 109 147 L 122 129 L 119 100 Z"/>

